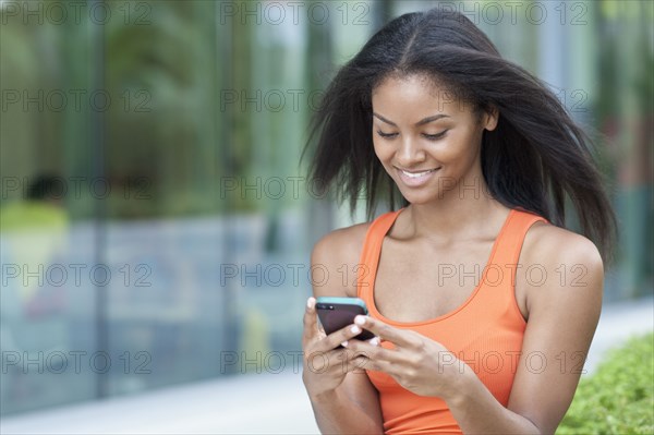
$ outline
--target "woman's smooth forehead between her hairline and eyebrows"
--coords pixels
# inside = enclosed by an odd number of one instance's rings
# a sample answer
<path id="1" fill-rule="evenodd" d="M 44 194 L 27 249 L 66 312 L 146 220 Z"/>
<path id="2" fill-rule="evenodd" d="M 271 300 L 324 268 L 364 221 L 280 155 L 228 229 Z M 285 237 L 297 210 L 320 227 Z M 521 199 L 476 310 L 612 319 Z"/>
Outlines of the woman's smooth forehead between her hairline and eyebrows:
<path id="1" fill-rule="evenodd" d="M 412 114 L 439 112 L 456 114 L 470 112 L 471 108 L 457 97 L 453 89 L 425 74 L 390 75 L 372 92 L 374 110 L 385 113 Z"/>

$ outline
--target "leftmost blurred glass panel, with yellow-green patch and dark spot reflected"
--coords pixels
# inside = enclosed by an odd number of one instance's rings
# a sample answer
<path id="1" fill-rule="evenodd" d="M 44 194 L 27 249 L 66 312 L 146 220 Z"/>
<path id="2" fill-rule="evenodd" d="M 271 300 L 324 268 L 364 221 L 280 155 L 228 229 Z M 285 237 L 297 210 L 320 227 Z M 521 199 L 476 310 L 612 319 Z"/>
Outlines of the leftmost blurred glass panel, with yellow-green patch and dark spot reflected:
<path id="1" fill-rule="evenodd" d="M 93 71 L 88 50 L 76 50 L 70 68 L 61 56 L 72 55 L 69 38 L 90 28 L 47 20 L 43 2 L 0 7 L 4 415 L 97 396 L 94 270 L 102 265 L 89 220 L 93 150 L 85 146 Z"/>

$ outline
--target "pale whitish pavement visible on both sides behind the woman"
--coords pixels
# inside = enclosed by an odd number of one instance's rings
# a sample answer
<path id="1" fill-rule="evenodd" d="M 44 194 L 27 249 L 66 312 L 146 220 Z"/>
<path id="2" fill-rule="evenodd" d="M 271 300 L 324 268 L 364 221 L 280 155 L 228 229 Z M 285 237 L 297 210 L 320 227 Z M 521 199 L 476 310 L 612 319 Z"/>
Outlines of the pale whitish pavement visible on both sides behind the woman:
<path id="1" fill-rule="evenodd" d="M 602 313 L 583 376 L 611 347 L 654 330 L 654 298 Z M 237 375 L 3 418 L 0 434 L 318 434 L 301 374 Z"/>

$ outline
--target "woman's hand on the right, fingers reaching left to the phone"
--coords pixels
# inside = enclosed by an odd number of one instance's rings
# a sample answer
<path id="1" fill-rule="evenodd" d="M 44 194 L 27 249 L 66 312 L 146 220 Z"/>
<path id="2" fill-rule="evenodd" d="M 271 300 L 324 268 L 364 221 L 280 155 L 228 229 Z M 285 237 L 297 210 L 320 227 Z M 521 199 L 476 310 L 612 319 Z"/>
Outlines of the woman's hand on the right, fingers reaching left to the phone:
<path id="1" fill-rule="evenodd" d="M 354 323 L 377 336 L 372 342 L 347 342 L 348 349 L 367 358 L 363 368 L 384 372 L 416 395 L 445 398 L 469 368 L 443 345 L 419 333 L 393 328 L 370 316 L 356 316 Z"/>

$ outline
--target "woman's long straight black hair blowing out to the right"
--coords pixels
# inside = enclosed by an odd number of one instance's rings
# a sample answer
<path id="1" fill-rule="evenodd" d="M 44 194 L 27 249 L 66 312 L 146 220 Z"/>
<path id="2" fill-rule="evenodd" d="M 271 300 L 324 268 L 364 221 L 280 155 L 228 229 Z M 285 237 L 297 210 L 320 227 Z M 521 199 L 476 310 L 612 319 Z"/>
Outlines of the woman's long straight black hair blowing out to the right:
<path id="1" fill-rule="evenodd" d="M 372 92 L 391 75 L 421 74 L 451 89 L 475 110 L 499 111 L 484 131 L 482 171 L 491 195 L 565 226 L 566 202 L 584 235 L 610 257 L 616 219 L 591 153 L 592 141 L 537 77 L 502 59 L 464 15 L 438 8 L 401 15 L 377 32 L 329 84 L 315 112 L 308 178 L 335 186 L 354 209 L 365 190 L 367 218 L 379 196 L 391 209 L 408 205 L 378 161 L 372 137 Z"/>

